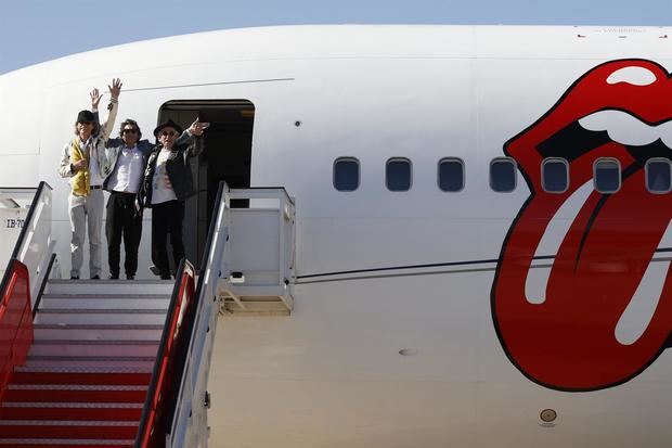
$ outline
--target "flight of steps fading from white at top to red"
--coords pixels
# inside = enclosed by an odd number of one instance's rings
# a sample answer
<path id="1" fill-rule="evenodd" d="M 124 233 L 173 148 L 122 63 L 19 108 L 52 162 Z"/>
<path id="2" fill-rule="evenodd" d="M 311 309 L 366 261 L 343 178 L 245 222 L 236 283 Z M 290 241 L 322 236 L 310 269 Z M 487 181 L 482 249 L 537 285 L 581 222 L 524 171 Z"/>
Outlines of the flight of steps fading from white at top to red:
<path id="1" fill-rule="evenodd" d="M 50 280 L 0 407 L 0 447 L 132 447 L 172 287 Z"/>

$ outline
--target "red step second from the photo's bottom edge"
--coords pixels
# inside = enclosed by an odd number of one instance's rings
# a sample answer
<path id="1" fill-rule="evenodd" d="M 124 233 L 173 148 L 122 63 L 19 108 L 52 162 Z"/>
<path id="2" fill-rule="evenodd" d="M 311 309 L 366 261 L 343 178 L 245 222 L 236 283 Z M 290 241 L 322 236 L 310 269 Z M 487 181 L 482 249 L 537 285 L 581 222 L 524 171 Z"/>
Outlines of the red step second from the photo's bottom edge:
<path id="1" fill-rule="evenodd" d="M 43 438 L 85 438 L 85 439 L 130 439 L 138 433 L 138 422 L 85 422 L 85 421 L 40 421 L 0 420 L 0 434 L 5 439 L 39 434 Z M 38 439 L 39 440 L 39 439 Z"/>

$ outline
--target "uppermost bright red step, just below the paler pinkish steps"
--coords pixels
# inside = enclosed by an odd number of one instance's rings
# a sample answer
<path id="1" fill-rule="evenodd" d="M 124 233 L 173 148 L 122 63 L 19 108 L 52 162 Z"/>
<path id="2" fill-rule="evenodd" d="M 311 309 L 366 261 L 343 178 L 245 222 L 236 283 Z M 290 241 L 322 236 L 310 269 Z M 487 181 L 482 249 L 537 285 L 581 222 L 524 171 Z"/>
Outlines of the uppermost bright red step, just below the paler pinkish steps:
<path id="1" fill-rule="evenodd" d="M 128 385 L 146 386 L 152 380 L 151 372 L 59 372 L 59 371 L 15 371 L 12 384 L 80 384 L 80 385 Z"/>

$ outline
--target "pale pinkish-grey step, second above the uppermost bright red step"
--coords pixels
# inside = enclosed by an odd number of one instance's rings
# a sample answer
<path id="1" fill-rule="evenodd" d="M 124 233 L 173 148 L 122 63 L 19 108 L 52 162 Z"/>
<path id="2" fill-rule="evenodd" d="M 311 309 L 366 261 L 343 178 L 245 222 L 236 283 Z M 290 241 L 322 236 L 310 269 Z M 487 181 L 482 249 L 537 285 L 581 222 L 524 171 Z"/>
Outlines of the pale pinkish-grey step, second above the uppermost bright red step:
<path id="1" fill-rule="evenodd" d="M 157 350 L 156 341 L 36 341 L 28 356 L 155 357 Z"/>

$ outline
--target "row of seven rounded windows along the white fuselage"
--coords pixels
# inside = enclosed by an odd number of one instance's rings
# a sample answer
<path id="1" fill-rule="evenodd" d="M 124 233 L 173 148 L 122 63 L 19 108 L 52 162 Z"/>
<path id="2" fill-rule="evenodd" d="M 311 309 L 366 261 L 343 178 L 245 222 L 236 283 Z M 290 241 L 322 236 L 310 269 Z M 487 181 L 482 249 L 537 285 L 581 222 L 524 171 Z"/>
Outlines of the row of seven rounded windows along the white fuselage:
<path id="1" fill-rule="evenodd" d="M 490 162 L 490 188 L 506 193 L 516 189 L 516 162 L 497 157 Z M 651 193 L 672 190 L 672 162 L 650 158 L 645 165 L 646 188 Z M 541 165 L 542 188 L 548 193 L 564 193 L 569 188 L 569 163 L 564 158 L 545 158 Z M 439 161 L 437 181 L 445 192 L 464 189 L 464 162 L 456 157 Z M 412 184 L 412 164 L 409 158 L 393 157 L 385 166 L 385 184 L 389 191 L 409 191 Z M 593 184 L 600 193 L 616 193 L 621 188 L 621 166 L 616 158 L 598 158 L 593 165 Z M 334 188 L 354 191 L 360 185 L 360 163 L 354 157 L 340 157 L 334 162 Z"/>

